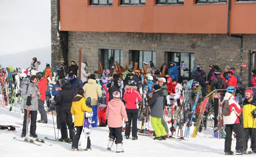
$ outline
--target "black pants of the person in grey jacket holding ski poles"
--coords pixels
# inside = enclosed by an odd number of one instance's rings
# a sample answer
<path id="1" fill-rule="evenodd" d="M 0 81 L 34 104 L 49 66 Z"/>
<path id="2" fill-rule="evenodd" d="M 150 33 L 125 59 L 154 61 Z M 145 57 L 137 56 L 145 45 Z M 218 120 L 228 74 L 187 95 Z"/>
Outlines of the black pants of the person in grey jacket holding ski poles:
<path id="1" fill-rule="evenodd" d="M 35 134 L 37 129 L 37 111 L 29 111 L 30 114 L 30 133 Z M 26 134 L 27 130 L 27 110 L 24 109 L 24 120 L 23 120 L 23 127 L 22 133 Z"/>

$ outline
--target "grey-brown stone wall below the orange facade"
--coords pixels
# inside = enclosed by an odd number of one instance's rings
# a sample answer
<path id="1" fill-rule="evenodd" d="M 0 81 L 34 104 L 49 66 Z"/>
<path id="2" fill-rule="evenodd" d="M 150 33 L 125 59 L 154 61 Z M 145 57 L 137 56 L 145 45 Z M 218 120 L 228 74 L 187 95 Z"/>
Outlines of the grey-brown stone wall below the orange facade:
<path id="1" fill-rule="evenodd" d="M 249 50 L 256 50 L 256 35 L 244 35 L 243 62 L 249 66 Z M 82 47 L 82 61 L 89 70 L 98 70 L 101 61 L 100 49 L 122 49 L 123 65 L 129 64 L 129 50 L 157 52 L 156 65 L 167 62 L 167 52 L 189 52 L 195 54 L 195 66 L 202 64 L 208 73 L 209 64 L 234 66 L 240 73 L 240 38 L 226 34 L 169 34 L 169 33 L 124 33 L 124 32 L 69 32 L 69 60 L 78 61 L 78 49 Z M 243 84 L 248 82 L 248 68 L 243 70 Z"/>

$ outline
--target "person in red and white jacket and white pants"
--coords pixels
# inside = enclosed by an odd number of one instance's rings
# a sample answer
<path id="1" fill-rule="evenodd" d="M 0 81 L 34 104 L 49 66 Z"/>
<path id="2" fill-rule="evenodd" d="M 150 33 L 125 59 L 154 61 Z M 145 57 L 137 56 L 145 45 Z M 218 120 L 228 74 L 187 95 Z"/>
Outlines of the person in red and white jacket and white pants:
<path id="1" fill-rule="evenodd" d="M 181 96 L 182 86 L 175 78 L 172 80 L 172 83 L 173 85 L 171 86 L 171 92 L 166 97 L 167 105 L 171 105 L 171 100 L 174 100 L 174 106 L 178 106 L 177 99 L 179 99 Z"/>

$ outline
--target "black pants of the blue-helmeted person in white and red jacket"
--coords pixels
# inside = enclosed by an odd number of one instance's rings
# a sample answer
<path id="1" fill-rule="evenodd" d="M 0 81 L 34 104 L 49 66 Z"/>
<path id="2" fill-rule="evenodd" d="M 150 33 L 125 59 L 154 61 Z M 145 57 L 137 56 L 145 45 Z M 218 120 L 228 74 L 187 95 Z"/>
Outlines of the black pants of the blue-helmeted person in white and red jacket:
<path id="1" fill-rule="evenodd" d="M 232 132 L 233 131 L 236 135 L 235 150 L 242 150 L 242 148 L 243 148 L 241 124 L 226 124 L 226 138 L 225 138 L 224 152 L 231 151 Z"/>

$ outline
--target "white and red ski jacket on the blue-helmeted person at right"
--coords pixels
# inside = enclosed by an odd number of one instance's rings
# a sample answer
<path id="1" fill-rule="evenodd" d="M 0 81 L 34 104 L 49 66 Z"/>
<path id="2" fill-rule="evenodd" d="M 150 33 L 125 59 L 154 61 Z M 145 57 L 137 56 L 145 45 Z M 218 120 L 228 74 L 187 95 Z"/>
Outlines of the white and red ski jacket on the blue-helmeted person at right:
<path id="1" fill-rule="evenodd" d="M 234 95 L 226 92 L 224 96 L 224 100 L 229 101 L 229 111 L 231 111 L 230 115 L 224 116 L 223 115 L 223 123 L 224 124 L 239 124 L 238 115 L 242 112 L 242 108 L 240 108 L 238 101 L 235 99 Z M 222 101 L 222 102 L 223 102 Z"/>

